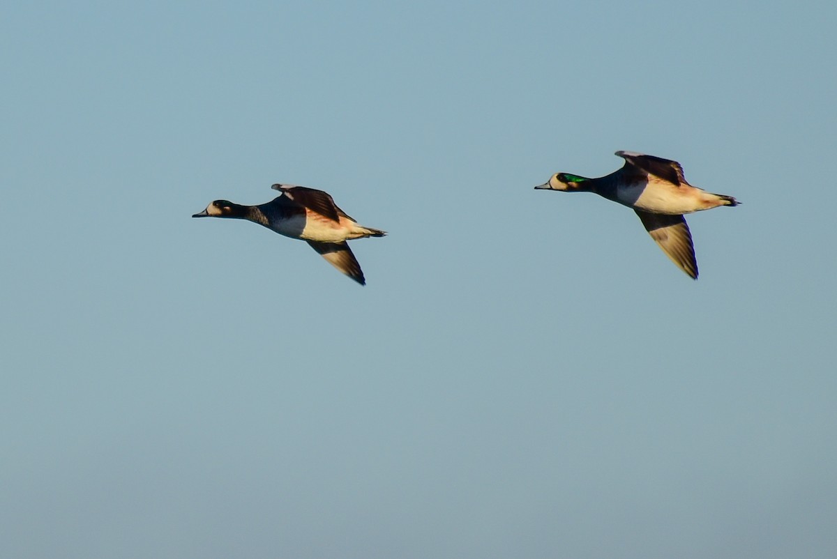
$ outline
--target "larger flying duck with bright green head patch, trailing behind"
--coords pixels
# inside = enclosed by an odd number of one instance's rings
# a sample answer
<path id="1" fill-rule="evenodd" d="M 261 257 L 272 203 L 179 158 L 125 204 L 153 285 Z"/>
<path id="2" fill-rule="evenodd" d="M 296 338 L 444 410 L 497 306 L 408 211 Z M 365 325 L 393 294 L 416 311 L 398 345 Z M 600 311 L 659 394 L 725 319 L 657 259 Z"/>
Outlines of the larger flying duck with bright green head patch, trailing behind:
<path id="1" fill-rule="evenodd" d="M 697 260 L 685 213 L 701 212 L 719 206 L 737 206 L 734 197 L 713 194 L 686 182 L 680 163 L 635 151 L 617 151 L 624 167 L 605 177 L 579 177 L 557 172 L 536 190 L 593 192 L 633 208 L 655 243 L 693 280 L 697 280 Z"/>

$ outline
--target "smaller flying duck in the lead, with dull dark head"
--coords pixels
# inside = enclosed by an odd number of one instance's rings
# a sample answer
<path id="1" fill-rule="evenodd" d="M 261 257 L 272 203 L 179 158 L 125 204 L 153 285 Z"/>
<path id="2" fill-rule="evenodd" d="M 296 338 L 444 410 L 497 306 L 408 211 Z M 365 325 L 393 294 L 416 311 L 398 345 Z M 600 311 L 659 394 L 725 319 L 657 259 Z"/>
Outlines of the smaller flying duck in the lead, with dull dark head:
<path id="1" fill-rule="evenodd" d="M 275 184 L 279 197 L 257 206 L 215 200 L 193 218 L 246 219 L 275 233 L 306 241 L 329 264 L 360 285 L 366 278 L 347 240 L 383 237 L 386 231 L 363 227 L 337 207 L 327 192 L 295 184 Z"/>

